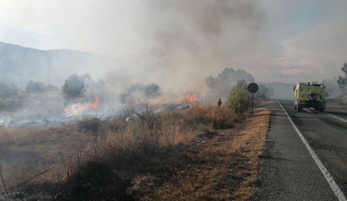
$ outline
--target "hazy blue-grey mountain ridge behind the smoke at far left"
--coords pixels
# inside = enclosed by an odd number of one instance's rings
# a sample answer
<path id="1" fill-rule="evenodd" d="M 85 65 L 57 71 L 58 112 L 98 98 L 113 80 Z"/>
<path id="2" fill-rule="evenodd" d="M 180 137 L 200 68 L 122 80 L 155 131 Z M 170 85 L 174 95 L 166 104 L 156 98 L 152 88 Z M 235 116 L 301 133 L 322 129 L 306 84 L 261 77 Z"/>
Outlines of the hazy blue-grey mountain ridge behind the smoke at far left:
<path id="1" fill-rule="evenodd" d="M 0 42 L 0 77 L 23 87 L 30 80 L 61 86 L 72 73 L 92 73 L 96 77 L 116 61 L 110 57 L 75 50 L 37 50 Z M 48 64 L 49 63 L 49 64 Z M 97 71 L 96 71 L 97 69 Z"/>

